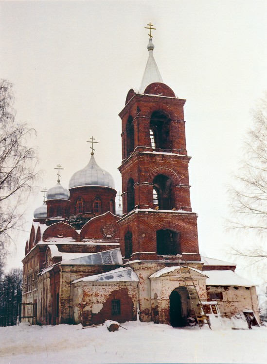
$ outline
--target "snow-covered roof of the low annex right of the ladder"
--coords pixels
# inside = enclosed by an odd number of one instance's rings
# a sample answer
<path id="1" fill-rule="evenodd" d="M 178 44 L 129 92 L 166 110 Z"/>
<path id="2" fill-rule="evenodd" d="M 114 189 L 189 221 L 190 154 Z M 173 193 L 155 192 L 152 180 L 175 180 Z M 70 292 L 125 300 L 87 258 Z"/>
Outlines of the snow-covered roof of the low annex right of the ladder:
<path id="1" fill-rule="evenodd" d="M 252 287 L 255 283 L 239 276 L 231 270 L 207 270 L 207 286 L 243 286 Z"/>

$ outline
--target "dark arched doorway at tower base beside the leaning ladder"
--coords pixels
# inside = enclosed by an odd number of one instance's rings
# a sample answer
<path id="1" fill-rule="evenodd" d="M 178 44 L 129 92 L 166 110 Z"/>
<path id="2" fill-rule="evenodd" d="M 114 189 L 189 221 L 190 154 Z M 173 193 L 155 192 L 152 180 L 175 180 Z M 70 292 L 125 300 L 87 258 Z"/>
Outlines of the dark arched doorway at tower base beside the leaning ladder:
<path id="1" fill-rule="evenodd" d="M 178 287 L 170 294 L 170 324 L 173 327 L 186 325 L 189 315 L 188 294 L 186 287 Z"/>

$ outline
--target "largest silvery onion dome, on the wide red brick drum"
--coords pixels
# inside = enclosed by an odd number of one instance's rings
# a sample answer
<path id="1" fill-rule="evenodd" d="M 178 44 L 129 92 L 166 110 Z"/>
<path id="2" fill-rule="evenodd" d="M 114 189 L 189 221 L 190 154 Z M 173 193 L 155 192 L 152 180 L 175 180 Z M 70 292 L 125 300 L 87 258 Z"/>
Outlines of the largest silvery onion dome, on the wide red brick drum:
<path id="1" fill-rule="evenodd" d="M 105 186 L 114 188 L 114 180 L 110 173 L 102 169 L 95 161 L 94 156 L 83 169 L 73 174 L 69 189 L 81 186 Z"/>

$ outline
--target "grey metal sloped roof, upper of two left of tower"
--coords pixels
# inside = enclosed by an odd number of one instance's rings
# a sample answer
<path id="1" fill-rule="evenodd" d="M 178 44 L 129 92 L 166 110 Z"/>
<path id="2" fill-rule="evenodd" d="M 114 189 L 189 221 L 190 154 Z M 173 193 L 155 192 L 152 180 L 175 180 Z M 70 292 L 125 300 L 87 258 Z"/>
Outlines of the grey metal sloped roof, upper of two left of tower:
<path id="1" fill-rule="evenodd" d="M 68 253 L 63 253 L 63 254 L 68 254 Z M 73 265 L 123 264 L 123 258 L 120 248 L 101 251 L 99 253 L 86 253 L 84 256 L 80 255 L 80 257 L 73 256 L 71 258 L 68 258 L 68 260 L 64 261 L 62 257 L 61 265 L 72 265 L 72 264 Z"/>

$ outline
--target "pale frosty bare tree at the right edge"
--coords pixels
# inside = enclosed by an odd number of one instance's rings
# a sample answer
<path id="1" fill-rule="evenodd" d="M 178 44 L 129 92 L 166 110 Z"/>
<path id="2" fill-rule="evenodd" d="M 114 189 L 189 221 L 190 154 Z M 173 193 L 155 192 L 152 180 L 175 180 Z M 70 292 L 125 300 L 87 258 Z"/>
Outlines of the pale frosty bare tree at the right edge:
<path id="1" fill-rule="evenodd" d="M 231 220 L 228 226 L 256 233 L 256 245 L 243 249 L 233 247 L 232 253 L 243 257 L 248 265 L 262 267 L 267 258 L 264 244 L 267 234 L 267 94 L 252 111 L 252 116 L 254 123 L 245 139 L 241 167 L 235 186 L 229 190 Z"/>

